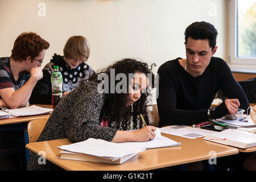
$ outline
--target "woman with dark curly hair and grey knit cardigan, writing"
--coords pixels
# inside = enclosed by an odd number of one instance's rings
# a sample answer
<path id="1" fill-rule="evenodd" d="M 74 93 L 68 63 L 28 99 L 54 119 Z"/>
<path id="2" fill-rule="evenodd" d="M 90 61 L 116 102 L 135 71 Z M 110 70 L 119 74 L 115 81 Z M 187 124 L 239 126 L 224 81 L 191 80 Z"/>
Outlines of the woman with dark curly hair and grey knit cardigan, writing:
<path id="1" fill-rule="evenodd" d="M 99 79 L 102 75 L 108 79 Z M 118 76 L 122 76 L 123 80 L 119 81 Z M 117 61 L 97 73 L 91 81 L 82 83 L 59 102 L 38 142 L 62 138 L 69 138 L 73 142 L 88 138 L 111 142 L 146 142 L 154 139 L 156 128 L 143 127 L 139 119 L 139 114 L 146 114 L 148 87 L 151 82 L 154 83 L 152 76 L 151 69 L 142 61 Z M 118 88 L 127 92 L 117 92 Z M 60 169 L 49 161 L 46 165 L 39 165 L 38 158 L 37 154 L 31 154 L 29 170 Z"/>

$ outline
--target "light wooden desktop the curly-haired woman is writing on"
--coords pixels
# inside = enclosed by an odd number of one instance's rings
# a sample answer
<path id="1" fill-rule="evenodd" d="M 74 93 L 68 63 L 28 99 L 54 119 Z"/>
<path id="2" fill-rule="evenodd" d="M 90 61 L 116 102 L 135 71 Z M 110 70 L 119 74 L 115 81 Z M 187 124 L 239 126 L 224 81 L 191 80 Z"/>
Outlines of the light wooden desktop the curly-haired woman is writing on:
<path id="1" fill-rule="evenodd" d="M 206 140 L 188 139 L 177 137 L 175 135 L 163 134 L 163 136 L 171 138 L 176 142 L 181 142 L 181 146 L 148 149 L 134 156 L 123 164 L 103 164 L 93 162 L 82 162 L 76 160 L 66 160 L 60 158 L 60 149 L 57 146 L 71 144 L 69 139 L 49 140 L 45 142 L 28 143 L 26 148 L 38 154 L 39 151 L 46 152 L 46 159 L 55 163 L 57 166 L 66 170 L 150 170 L 163 168 L 168 166 L 176 166 L 197 162 L 200 160 L 208 160 L 212 157 L 210 151 L 216 152 L 216 156 L 228 156 L 238 154 L 237 148 L 225 146 L 218 143 L 208 142 Z"/>

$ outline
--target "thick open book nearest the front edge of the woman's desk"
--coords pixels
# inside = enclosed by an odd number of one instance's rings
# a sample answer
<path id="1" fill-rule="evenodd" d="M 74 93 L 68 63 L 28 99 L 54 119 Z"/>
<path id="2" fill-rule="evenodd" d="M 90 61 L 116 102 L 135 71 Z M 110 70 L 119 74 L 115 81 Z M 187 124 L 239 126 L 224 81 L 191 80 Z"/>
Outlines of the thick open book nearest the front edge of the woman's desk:
<path id="1" fill-rule="evenodd" d="M 57 148 L 64 150 L 60 152 L 60 159 L 110 164 L 122 164 L 146 150 L 143 147 L 131 147 L 94 138 Z"/>

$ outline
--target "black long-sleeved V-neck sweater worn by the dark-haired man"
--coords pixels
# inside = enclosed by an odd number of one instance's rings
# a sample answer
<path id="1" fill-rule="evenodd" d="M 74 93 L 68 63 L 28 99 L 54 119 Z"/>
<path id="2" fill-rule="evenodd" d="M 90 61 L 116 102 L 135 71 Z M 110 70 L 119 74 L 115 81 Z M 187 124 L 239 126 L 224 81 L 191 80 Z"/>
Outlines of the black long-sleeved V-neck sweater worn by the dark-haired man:
<path id="1" fill-rule="evenodd" d="M 158 69 L 157 90 L 159 127 L 167 125 L 192 125 L 208 120 L 210 108 L 217 90 L 228 98 L 237 98 L 241 109 L 247 109 L 249 102 L 245 92 L 234 79 L 224 60 L 212 57 L 203 75 L 192 77 L 179 64 L 180 57 L 167 61 Z M 223 102 L 216 107 L 215 118 L 224 117 L 229 111 Z"/>

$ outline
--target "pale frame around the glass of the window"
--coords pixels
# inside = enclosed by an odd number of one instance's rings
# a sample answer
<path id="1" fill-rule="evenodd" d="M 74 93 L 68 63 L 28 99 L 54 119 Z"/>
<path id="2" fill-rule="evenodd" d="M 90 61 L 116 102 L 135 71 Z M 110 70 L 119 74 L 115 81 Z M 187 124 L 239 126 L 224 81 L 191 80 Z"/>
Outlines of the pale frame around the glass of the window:
<path id="1" fill-rule="evenodd" d="M 237 57 L 237 0 L 228 1 L 229 64 L 256 65 L 256 57 Z"/>

